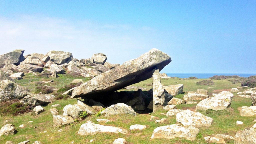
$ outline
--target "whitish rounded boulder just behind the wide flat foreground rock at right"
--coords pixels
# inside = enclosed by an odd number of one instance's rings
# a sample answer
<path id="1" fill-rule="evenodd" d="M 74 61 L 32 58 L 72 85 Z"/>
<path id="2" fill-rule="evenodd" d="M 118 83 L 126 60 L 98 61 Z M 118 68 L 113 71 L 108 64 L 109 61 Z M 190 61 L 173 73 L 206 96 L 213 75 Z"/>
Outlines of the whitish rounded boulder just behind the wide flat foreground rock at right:
<path id="1" fill-rule="evenodd" d="M 200 112 L 193 112 L 189 109 L 179 112 L 176 115 L 176 121 L 184 126 L 210 127 L 213 119 Z"/>

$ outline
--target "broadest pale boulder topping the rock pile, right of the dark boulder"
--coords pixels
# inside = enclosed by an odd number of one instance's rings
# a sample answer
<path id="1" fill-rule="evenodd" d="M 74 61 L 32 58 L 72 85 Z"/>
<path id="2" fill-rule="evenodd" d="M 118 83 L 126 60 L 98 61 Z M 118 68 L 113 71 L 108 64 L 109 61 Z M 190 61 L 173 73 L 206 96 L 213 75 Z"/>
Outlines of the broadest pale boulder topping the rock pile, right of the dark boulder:
<path id="1" fill-rule="evenodd" d="M 73 56 L 69 52 L 51 50 L 45 56 L 49 56 L 50 60 L 57 65 L 69 63 L 69 61 L 73 60 Z"/>

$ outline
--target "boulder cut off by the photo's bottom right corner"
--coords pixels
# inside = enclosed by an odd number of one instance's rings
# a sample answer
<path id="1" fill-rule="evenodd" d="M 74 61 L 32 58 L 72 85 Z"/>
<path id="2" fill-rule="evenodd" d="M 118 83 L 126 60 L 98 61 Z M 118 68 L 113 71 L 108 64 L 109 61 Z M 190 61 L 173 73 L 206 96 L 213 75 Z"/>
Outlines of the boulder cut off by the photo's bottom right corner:
<path id="1" fill-rule="evenodd" d="M 250 128 L 239 130 L 236 133 L 234 144 L 254 144 L 256 143 L 256 129 Z"/>

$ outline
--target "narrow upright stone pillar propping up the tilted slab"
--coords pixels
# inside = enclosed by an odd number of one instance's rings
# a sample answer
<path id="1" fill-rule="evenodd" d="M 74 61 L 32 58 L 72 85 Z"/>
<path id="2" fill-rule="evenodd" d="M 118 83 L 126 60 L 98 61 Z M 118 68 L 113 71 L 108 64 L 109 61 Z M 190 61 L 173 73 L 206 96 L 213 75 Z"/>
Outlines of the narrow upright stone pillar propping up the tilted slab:
<path id="1" fill-rule="evenodd" d="M 165 105 L 164 87 L 161 84 L 159 69 L 153 70 L 153 111 Z"/>

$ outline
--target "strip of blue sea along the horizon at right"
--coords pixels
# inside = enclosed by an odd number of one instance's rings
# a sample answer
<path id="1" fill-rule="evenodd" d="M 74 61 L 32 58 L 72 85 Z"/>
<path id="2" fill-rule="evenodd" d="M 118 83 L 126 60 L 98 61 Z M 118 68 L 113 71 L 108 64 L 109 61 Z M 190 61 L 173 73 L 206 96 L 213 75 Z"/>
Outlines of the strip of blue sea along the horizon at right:
<path id="1" fill-rule="evenodd" d="M 188 78 L 188 77 L 197 77 L 197 78 L 209 78 L 215 75 L 224 75 L 224 76 L 240 76 L 240 77 L 250 77 L 255 76 L 256 74 L 203 74 L 203 73 L 166 73 L 169 77 L 178 77 L 178 78 Z"/>

